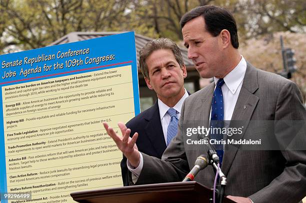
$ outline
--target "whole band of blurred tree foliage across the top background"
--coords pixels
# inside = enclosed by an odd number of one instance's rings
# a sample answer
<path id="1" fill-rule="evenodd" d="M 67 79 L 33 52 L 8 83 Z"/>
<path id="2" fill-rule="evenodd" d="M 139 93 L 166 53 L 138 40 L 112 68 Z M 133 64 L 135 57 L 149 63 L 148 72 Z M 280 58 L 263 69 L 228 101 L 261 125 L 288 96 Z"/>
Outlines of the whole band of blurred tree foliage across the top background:
<path id="1" fill-rule="evenodd" d="M 43 47 L 72 31 L 134 30 L 178 41 L 181 16 L 205 4 L 233 13 L 240 41 L 306 31 L 303 0 L 1 0 L 0 53 Z"/>

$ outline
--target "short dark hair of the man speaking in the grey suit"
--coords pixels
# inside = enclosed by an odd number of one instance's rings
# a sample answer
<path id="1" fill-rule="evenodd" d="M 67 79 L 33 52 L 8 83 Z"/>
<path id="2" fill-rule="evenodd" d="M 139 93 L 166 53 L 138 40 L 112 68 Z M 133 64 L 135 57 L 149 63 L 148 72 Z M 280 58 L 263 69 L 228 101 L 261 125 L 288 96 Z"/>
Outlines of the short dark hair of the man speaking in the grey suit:
<path id="1" fill-rule="evenodd" d="M 230 33 L 231 45 L 234 48 L 239 47 L 236 21 L 229 11 L 214 5 L 198 6 L 181 17 L 180 27 L 183 28 L 189 20 L 198 16 L 204 18 L 206 24 L 204 28 L 212 36 L 217 36 L 222 29 L 227 29 Z"/>

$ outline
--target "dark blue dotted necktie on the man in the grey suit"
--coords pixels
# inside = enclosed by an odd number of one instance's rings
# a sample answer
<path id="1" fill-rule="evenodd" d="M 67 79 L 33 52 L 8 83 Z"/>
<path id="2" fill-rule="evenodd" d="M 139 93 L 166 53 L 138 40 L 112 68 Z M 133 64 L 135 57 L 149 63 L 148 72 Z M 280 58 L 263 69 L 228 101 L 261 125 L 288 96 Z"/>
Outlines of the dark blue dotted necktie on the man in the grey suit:
<path id="1" fill-rule="evenodd" d="M 210 117 L 210 139 L 215 141 L 220 141 L 223 139 L 222 128 L 224 120 L 224 105 L 223 105 L 223 95 L 222 95 L 222 85 L 224 84 L 223 78 L 219 79 L 216 83 L 211 101 L 211 117 Z M 214 131 L 212 131 L 214 130 Z M 218 142 L 214 144 L 216 153 L 220 159 L 220 165 L 223 159 L 223 144 Z"/>

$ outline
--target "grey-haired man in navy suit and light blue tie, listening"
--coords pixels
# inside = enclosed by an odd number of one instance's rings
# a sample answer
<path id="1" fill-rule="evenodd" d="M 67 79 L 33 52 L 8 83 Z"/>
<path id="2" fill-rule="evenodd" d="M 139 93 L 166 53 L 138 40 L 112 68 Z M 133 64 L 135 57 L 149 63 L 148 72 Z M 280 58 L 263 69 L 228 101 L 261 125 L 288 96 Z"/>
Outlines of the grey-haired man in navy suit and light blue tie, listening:
<path id="1" fill-rule="evenodd" d="M 136 141 L 140 152 L 161 159 L 171 140 L 167 135 L 171 120 L 167 111 L 174 109 L 177 115 L 173 119 L 179 118 L 181 105 L 188 96 L 183 86 L 187 72 L 180 49 L 167 38 L 146 43 L 139 51 L 139 64 L 147 87 L 156 92 L 158 100 L 128 121 L 126 127 L 131 130 L 131 135 L 135 132 L 140 135 Z M 123 186 L 129 186 L 124 156 L 120 166 Z"/>

